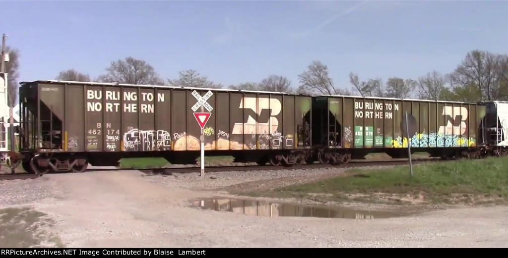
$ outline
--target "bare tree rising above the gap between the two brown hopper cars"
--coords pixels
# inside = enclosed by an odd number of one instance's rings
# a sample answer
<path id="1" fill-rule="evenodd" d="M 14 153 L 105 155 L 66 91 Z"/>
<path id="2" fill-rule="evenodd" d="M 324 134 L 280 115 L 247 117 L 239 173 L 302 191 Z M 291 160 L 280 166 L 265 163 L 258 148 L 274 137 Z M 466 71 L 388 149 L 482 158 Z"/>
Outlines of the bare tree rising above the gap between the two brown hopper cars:
<path id="1" fill-rule="evenodd" d="M 299 93 L 307 94 L 339 94 L 333 86 L 333 81 L 328 75 L 328 66 L 321 61 L 313 61 L 307 66 L 307 70 L 298 75 L 300 86 Z"/>

